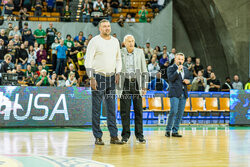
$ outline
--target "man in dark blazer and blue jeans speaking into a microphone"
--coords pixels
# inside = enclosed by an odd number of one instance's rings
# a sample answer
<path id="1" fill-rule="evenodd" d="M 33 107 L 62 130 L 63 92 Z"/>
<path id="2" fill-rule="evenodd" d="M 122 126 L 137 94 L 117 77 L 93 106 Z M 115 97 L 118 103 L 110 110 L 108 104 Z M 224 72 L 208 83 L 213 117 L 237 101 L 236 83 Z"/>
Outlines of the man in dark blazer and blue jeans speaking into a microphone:
<path id="1" fill-rule="evenodd" d="M 170 137 L 172 131 L 173 137 L 182 137 L 178 133 L 182 115 L 184 113 L 187 94 L 187 85 L 190 84 L 189 71 L 183 66 L 185 56 L 183 53 L 175 55 L 175 63 L 168 68 L 170 113 L 166 127 L 166 137 Z"/>

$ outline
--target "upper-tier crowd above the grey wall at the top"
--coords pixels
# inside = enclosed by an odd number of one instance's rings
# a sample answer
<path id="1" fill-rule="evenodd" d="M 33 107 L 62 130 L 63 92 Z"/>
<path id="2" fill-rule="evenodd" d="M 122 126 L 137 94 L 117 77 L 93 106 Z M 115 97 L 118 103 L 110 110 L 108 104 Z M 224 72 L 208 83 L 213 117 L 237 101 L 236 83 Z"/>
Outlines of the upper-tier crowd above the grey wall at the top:
<path id="1" fill-rule="evenodd" d="M 75 21 L 72 12 L 69 8 L 70 2 L 73 0 L 1 0 L 2 11 L 0 15 L 4 15 L 7 20 L 15 20 L 17 17 L 20 20 L 28 21 L 29 17 L 46 16 L 43 12 L 59 13 L 60 21 L 71 22 Z M 133 5 L 130 0 L 79 0 L 80 8 L 71 8 L 79 10 L 81 20 L 83 22 L 98 22 L 100 19 L 107 18 L 112 22 L 112 14 L 121 13 L 123 9 L 139 9 L 136 12 L 126 12 L 126 15 L 120 15 L 116 20 L 119 25 L 123 26 L 124 22 L 136 22 L 135 17 L 139 17 L 139 22 L 151 22 L 152 17 L 148 17 L 148 9 L 152 11 L 153 17 L 159 14 L 169 0 L 148 0 L 136 1 L 140 5 Z"/>

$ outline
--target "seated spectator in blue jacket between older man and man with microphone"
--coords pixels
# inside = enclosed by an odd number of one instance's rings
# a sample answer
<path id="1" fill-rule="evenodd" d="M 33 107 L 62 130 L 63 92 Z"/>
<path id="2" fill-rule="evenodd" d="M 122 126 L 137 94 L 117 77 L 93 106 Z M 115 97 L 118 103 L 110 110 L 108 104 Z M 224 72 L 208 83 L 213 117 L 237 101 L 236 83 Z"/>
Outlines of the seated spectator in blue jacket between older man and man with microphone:
<path id="1" fill-rule="evenodd" d="M 158 72 L 156 78 L 149 83 L 148 89 L 154 91 L 167 91 L 168 83 L 161 78 L 161 73 Z"/>

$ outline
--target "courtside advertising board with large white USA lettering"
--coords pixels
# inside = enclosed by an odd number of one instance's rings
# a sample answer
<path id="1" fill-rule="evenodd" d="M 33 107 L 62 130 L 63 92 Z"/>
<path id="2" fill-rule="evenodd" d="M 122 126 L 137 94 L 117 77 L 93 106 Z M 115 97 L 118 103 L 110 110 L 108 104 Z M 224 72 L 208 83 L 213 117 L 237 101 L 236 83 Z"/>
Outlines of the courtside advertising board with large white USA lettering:
<path id="1" fill-rule="evenodd" d="M 89 88 L 0 86 L 0 127 L 91 125 L 91 111 Z"/>

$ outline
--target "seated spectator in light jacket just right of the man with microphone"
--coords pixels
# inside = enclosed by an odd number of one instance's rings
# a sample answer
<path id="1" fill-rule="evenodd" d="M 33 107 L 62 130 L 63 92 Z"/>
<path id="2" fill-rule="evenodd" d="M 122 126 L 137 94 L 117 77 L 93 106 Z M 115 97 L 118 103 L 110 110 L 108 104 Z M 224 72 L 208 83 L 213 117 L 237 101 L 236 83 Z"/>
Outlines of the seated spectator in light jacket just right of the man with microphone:
<path id="1" fill-rule="evenodd" d="M 198 71 L 198 76 L 192 82 L 191 91 L 204 92 L 207 87 L 207 79 L 203 77 L 203 72 Z"/>

